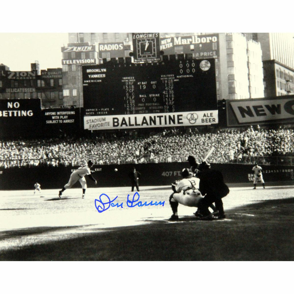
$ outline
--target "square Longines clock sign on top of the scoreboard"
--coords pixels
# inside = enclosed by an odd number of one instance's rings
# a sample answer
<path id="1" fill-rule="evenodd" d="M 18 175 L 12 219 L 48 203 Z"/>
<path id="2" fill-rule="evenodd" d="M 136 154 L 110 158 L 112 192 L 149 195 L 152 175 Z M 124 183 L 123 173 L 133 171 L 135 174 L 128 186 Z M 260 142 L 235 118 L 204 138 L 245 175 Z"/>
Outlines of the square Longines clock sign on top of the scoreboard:
<path id="1" fill-rule="evenodd" d="M 134 62 L 160 61 L 159 33 L 132 33 Z"/>

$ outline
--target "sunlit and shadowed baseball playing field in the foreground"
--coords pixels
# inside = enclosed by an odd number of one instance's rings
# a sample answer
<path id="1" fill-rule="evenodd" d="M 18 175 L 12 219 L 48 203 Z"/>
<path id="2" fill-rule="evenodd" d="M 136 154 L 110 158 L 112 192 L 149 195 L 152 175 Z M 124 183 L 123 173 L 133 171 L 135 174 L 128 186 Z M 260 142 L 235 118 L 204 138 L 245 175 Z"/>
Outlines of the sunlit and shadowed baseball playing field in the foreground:
<path id="1" fill-rule="evenodd" d="M 129 188 L 1 191 L 0 260 L 252 261 L 294 260 L 293 186 L 230 187 L 226 220 L 199 221 L 179 205 L 168 222 L 170 187 L 141 187 L 142 203 L 127 207 Z M 99 213 L 95 199 L 113 203 Z M 104 201 L 105 202 L 105 201 Z"/>

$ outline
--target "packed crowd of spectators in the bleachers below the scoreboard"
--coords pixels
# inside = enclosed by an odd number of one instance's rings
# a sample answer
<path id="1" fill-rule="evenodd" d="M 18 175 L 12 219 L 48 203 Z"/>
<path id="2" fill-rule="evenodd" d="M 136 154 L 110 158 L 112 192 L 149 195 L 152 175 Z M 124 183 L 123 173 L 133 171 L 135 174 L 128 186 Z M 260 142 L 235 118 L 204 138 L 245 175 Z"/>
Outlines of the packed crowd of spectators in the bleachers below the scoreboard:
<path id="1" fill-rule="evenodd" d="M 212 163 L 248 162 L 254 156 L 294 156 L 292 128 L 176 129 L 104 133 L 96 138 L 64 137 L 0 141 L 0 168 L 17 166 L 76 166 L 85 158 L 94 164 L 198 161 L 215 147 Z M 266 161 L 263 162 L 266 164 Z"/>

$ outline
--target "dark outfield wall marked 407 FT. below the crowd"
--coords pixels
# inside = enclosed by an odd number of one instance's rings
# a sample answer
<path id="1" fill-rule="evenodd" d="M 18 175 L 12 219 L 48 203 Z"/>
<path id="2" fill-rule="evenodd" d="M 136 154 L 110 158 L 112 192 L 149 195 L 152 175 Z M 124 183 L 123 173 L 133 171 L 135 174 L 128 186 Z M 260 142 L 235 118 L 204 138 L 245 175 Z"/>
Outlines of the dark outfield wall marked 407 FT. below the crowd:
<path id="1" fill-rule="evenodd" d="M 94 165 L 93 174 L 100 187 L 131 186 L 128 173 L 131 164 Z M 165 186 L 181 178 L 181 170 L 189 167 L 186 162 L 145 163 L 137 164 L 136 169 L 141 173 L 140 186 Z M 248 164 L 211 164 L 212 168 L 223 173 L 226 183 L 253 182 L 253 165 Z M 60 189 L 69 180 L 69 176 L 76 167 L 22 167 L 0 169 L 1 190 L 30 190 L 37 181 L 42 189 Z M 115 172 L 114 169 L 118 168 Z M 265 182 L 293 181 L 293 166 L 263 166 Z M 293 181 L 294 183 L 294 181 Z M 93 181 L 87 178 L 88 187 L 94 187 Z M 77 182 L 74 187 L 80 187 Z"/>

